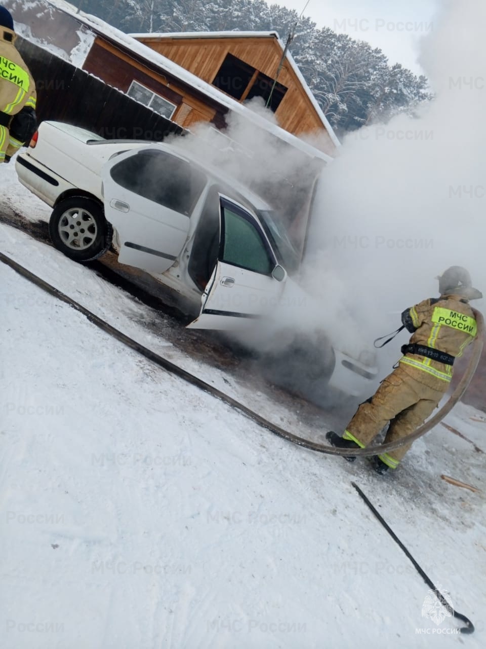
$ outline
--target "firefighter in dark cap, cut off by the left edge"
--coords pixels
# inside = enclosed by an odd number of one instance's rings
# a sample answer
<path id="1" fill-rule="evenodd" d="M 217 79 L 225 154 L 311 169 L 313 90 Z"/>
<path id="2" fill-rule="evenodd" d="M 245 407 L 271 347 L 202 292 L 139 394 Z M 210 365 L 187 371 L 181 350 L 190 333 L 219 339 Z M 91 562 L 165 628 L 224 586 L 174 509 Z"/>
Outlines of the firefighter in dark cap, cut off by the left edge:
<path id="1" fill-rule="evenodd" d="M 36 86 L 14 45 L 10 12 L 0 5 L 0 164 L 30 141 L 36 131 Z"/>

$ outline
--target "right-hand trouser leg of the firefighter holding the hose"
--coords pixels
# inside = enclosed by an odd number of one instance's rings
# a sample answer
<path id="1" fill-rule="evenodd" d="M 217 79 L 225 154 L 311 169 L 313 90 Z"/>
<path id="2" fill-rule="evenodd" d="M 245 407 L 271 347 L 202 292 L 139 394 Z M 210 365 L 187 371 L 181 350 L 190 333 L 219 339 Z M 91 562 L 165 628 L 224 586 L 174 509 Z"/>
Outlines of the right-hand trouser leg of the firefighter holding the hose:
<path id="1" fill-rule="evenodd" d="M 433 397 L 433 395 L 428 396 Z M 437 393 L 437 398 L 421 399 L 413 406 L 410 406 L 410 408 L 400 412 L 400 414 L 391 421 L 384 439 L 384 444 L 398 441 L 399 439 L 403 439 L 407 435 L 415 432 L 427 417 L 432 415 L 442 396 L 443 393 Z M 382 462 L 388 465 L 390 469 L 396 469 L 400 460 L 404 457 L 406 452 L 410 450 L 410 447 L 411 444 L 406 444 L 400 448 L 395 448 L 395 450 L 392 450 L 389 453 L 382 453 L 378 457 Z"/>

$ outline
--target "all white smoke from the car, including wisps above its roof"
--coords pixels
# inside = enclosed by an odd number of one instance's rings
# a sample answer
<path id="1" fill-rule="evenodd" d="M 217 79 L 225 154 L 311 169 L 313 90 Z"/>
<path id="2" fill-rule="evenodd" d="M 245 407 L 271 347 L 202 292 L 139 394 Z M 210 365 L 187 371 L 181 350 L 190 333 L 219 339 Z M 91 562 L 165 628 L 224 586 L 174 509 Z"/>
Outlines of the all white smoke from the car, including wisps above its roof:
<path id="1" fill-rule="evenodd" d="M 398 116 L 344 138 L 321 173 L 312 209 L 300 284 L 314 299 L 299 302 L 292 288 L 274 314 L 279 328 L 312 341 L 325 330 L 336 347 L 358 356 L 400 325 L 404 308 L 436 296 L 435 276 L 450 265 L 467 267 L 486 293 L 485 23 L 481 0 L 444 0 L 419 58 L 435 100 L 413 118 Z M 252 108 L 275 120 L 257 102 Z M 296 193 L 308 190 L 314 174 L 308 158 L 283 154 L 275 138 L 237 116 L 226 132 L 240 143 L 239 155 L 214 147 L 207 125 L 180 145 L 245 184 L 272 170 L 270 202 L 278 203 L 286 182 Z M 484 301 L 474 306 L 483 309 Z M 268 334 L 259 330 L 253 344 L 281 344 Z M 397 345 L 380 358 L 390 369 Z"/>

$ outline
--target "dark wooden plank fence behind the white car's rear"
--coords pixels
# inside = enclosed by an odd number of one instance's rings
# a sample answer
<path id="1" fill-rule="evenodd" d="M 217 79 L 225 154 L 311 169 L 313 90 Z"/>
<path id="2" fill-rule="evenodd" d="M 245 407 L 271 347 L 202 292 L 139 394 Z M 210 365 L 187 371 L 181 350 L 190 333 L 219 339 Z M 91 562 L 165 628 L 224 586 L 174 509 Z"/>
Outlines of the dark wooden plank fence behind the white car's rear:
<path id="1" fill-rule="evenodd" d="M 183 132 L 172 121 L 38 45 L 19 36 L 16 47 L 36 82 L 39 122 L 65 121 L 108 140 L 163 140 L 168 134 Z"/>

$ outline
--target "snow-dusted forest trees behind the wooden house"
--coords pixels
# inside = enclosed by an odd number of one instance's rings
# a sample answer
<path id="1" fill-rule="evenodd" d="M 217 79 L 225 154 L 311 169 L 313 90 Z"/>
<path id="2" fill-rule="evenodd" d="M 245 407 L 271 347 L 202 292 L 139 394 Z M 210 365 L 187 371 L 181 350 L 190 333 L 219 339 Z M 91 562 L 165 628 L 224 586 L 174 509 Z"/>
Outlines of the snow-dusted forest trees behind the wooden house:
<path id="1" fill-rule="evenodd" d="M 277 31 L 286 42 L 294 32 L 290 52 L 338 134 L 413 114 L 432 96 L 426 77 L 390 66 L 380 49 L 264 0 L 81 0 L 78 6 L 127 33 Z"/>

